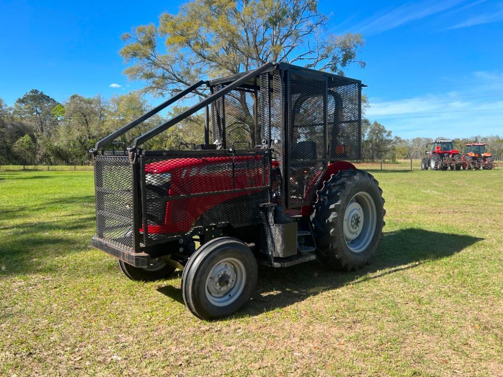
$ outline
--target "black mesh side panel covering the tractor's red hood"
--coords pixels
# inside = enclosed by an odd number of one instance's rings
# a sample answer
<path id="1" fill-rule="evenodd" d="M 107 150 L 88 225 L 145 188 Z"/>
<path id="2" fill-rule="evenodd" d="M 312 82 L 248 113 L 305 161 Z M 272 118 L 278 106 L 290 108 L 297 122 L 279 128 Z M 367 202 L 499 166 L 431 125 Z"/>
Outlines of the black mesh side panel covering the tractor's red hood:
<path id="1" fill-rule="evenodd" d="M 260 221 L 268 202 L 267 152 L 142 155 L 141 232 L 146 246 L 190 234 L 196 227 Z"/>

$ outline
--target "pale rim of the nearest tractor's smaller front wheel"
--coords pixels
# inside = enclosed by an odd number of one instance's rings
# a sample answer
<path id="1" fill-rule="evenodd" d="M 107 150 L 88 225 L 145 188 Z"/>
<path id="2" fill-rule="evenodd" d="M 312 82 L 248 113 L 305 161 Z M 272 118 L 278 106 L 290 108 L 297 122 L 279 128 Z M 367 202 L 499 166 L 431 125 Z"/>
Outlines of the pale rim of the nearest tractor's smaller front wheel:
<path id="1" fill-rule="evenodd" d="M 246 283 L 244 264 L 236 258 L 225 258 L 213 266 L 206 277 L 206 298 L 215 306 L 232 304 Z"/>

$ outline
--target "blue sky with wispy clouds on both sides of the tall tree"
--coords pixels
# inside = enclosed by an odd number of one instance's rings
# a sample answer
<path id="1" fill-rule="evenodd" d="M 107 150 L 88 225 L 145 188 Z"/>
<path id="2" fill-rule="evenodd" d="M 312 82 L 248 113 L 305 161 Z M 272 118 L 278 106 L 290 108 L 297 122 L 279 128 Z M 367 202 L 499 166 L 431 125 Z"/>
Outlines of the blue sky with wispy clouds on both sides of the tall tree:
<path id="1" fill-rule="evenodd" d="M 58 101 L 141 88 L 122 73 L 120 36 L 179 4 L 0 0 L 0 98 L 12 105 L 31 88 Z M 503 136 L 503 1 L 356 4 L 321 0 L 319 8 L 330 32 L 366 40 L 366 68 L 347 74 L 369 85 L 371 120 L 405 138 Z"/>

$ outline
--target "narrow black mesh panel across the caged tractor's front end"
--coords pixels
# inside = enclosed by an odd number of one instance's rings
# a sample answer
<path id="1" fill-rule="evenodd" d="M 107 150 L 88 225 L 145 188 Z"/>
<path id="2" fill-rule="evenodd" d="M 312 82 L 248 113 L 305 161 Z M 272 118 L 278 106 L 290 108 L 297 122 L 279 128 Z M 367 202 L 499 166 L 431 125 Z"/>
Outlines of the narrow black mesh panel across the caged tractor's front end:
<path id="1" fill-rule="evenodd" d="M 133 190 L 129 156 L 96 156 L 96 235 L 133 248 Z"/>

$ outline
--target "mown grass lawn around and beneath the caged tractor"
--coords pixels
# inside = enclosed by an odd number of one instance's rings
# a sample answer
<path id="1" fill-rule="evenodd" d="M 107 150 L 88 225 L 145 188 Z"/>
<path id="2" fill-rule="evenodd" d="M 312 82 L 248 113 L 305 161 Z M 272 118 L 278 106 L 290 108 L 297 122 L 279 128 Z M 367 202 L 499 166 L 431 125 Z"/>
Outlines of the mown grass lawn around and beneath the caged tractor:
<path id="1" fill-rule="evenodd" d="M 90 247 L 91 171 L 0 172 L 0 375 L 503 376 L 503 170 L 372 172 L 370 265 L 261 268 L 215 322 Z"/>

